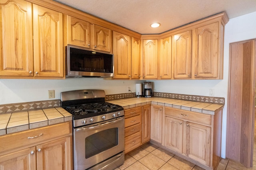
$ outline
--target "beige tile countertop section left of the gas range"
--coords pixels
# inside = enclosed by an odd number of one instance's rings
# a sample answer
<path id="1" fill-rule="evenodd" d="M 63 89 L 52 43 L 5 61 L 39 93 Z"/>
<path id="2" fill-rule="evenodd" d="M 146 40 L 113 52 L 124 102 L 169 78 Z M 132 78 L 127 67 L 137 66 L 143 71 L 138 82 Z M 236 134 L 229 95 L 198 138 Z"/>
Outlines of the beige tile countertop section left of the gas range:
<path id="1" fill-rule="evenodd" d="M 31 109 L 0 114 L 0 135 L 53 125 L 72 120 L 62 107 Z"/>

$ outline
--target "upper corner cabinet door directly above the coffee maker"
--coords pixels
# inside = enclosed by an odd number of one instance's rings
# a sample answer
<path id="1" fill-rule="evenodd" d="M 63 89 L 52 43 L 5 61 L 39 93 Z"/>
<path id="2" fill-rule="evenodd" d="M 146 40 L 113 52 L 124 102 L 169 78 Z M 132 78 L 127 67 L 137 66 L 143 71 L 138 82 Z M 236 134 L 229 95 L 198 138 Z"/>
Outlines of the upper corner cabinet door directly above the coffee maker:
<path id="1" fill-rule="evenodd" d="M 157 79 L 158 40 L 143 40 L 143 78 Z"/>

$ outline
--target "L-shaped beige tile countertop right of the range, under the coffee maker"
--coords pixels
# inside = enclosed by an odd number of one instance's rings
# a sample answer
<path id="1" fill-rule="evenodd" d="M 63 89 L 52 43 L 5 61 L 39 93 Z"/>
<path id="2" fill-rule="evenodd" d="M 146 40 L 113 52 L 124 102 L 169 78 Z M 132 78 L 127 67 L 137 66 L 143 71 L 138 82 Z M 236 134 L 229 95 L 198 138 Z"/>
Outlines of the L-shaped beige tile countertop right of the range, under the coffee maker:
<path id="1" fill-rule="evenodd" d="M 108 100 L 107 102 L 117 104 L 124 109 L 130 109 L 137 106 L 143 106 L 146 104 L 155 104 L 166 107 L 173 107 L 176 109 L 182 109 L 187 111 L 194 111 L 197 113 L 204 113 L 214 115 L 216 111 L 223 109 L 224 104 L 213 104 L 206 102 L 194 102 L 189 100 L 169 99 L 169 98 L 127 98 L 118 100 Z"/>

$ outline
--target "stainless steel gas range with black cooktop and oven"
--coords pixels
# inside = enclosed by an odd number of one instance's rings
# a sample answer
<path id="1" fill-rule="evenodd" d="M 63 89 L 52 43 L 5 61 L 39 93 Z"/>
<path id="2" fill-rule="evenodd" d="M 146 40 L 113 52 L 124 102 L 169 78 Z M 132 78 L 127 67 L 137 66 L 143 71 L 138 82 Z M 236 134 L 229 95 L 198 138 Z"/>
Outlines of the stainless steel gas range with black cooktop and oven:
<path id="1" fill-rule="evenodd" d="M 124 163 L 124 109 L 105 102 L 104 90 L 61 92 L 73 115 L 74 170 L 113 170 Z"/>

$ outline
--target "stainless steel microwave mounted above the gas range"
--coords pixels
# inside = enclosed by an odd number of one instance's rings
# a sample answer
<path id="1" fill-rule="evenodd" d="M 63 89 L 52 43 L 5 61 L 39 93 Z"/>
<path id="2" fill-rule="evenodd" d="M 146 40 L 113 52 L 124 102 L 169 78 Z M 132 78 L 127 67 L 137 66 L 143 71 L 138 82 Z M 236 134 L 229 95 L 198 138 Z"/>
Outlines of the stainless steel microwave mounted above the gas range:
<path id="1" fill-rule="evenodd" d="M 74 45 L 66 46 L 66 77 L 114 76 L 114 55 Z"/>

